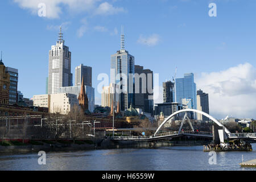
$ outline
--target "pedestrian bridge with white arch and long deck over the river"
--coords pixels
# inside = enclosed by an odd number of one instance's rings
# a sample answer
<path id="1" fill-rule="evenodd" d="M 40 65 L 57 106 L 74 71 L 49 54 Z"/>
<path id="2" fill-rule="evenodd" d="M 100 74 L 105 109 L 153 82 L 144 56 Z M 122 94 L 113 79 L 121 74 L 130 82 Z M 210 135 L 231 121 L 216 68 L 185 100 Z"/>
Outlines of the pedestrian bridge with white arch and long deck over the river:
<path id="1" fill-rule="evenodd" d="M 205 115 L 205 117 L 208 117 L 209 119 L 211 119 L 214 123 L 216 123 L 218 126 L 220 126 L 225 131 L 228 139 L 256 140 L 255 133 L 230 133 L 230 131 L 228 129 L 226 129 L 226 127 L 224 125 L 222 125 L 219 121 L 217 121 L 217 119 L 213 118 L 212 116 L 210 116 L 207 113 L 204 113 L 203 111 L 195 110 L 195 109 L 183 109 L 183 110 L 176 111 L 176 113 L 171 114 L 168 118 L 166 118 L 162 122 L 162 124 L 158 127 L 158 129 L 155 131 L 154 135 L 152 135 L 152 136 L 113 137 L 112 139 L 113 140 L 161 140 L 161 139 L 171 139 L 171 138 L 182 137 L 182 136 L 212 138 L 213 137 L 212 133 L 204 132 L 204 131 L 196 132 L 193 129 L 193 125 L 192 125 L 190 119 L 188 118 L 187 112 L 195 112 L 195 113 Z M 184 117 L 180 124 L 179 131 L 159 133 L 160 129 L 162 129 L 164 127 L 164 124 L 166 124 L 167 122 L 170 122 L 170 124 L 171 124 L 171 122 L 174 122 L 174 120 L 172 120 L 172 118 L 179 113 L 184 113 Z M 191 131 L 181 130 L 186 119 L 189 123 L 189 126 L 191 127 Z"/>

